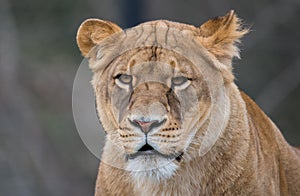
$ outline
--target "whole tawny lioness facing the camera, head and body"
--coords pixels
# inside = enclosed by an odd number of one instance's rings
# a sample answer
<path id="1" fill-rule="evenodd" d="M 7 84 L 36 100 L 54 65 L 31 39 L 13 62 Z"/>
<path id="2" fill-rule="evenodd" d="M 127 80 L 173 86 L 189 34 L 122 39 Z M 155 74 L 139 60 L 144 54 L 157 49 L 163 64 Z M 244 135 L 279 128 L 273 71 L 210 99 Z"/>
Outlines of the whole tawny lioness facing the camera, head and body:
<path id="1" fill-rule="evenodd" d="M 77 34 L 107 133 L 95 195 L 300 195 L 300 151 L 234 83 L 233 11 Z"/>

